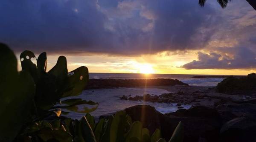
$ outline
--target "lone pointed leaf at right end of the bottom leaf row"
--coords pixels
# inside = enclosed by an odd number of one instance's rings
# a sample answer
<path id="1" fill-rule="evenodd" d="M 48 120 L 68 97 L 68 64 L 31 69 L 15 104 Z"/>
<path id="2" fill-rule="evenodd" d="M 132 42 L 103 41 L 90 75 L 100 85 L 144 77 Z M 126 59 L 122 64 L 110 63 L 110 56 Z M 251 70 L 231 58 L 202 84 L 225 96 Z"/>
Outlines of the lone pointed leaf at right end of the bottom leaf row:
<path id="1" fill-rule="evenodd" d="M 183 142 L 184 126 L 183 123 L 179 122 L 169 142 Z"/>

